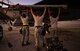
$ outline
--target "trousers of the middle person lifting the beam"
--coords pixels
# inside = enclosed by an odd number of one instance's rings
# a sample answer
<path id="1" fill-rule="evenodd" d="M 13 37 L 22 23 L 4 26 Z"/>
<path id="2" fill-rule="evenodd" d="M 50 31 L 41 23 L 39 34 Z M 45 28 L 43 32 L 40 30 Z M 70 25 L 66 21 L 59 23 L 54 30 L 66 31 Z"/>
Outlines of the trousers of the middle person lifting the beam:
<path id="1" fill-rule="evenodd" d="M 42 42 L 44 43 L 45 37 L 41 35 L 42 27 L 35 27 L 35 46 L 39 47 L 39 37 L 41 38 Z"/>

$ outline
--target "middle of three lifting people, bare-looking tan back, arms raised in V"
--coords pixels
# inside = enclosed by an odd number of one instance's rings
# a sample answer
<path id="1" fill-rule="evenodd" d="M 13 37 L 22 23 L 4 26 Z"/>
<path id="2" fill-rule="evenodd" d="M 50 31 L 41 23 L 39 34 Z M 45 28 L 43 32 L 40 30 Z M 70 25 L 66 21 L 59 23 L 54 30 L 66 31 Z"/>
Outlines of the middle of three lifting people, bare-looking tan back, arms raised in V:
<path id="1" fill-rule="evenodd" d="M 36 14 L 34 14 L 32 11 L 32 7 L 30 8 L 30 11 L 31 11 L 31 14 L 34 18 L 35 43 L 36 43 L 35 46 L 36 46 L 36 49 L 38 51 L 39 50 L 39 36 L 40 36 L 41 31 L 42 31 L 42 23 L 43 23 L 44 15 L 46 13 L 46 7 L 45 7 L 42 15 L 40 15 L 39 11 L 37 11 Z M 44 37 L 42 37 L 42 40 L 44 40 Z M 44 41 L 43 41 L 43 44 L 44 44 Z"/>

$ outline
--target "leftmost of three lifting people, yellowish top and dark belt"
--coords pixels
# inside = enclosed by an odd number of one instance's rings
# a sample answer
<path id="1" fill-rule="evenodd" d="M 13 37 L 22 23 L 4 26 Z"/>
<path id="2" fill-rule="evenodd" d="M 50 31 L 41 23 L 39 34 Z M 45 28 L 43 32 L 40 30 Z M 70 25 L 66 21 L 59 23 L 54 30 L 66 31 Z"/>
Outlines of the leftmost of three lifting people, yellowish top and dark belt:
<path id="1" fill-rule="evenodd" d="M 23 23 L 22 26 L 22 35 L 23 35 L 23 40 L 22 40 L 22 46 L 28 45 L 29 44 L 29 19 L 28 19 L 28 14 L 22 14 L 20 17 Z"/>

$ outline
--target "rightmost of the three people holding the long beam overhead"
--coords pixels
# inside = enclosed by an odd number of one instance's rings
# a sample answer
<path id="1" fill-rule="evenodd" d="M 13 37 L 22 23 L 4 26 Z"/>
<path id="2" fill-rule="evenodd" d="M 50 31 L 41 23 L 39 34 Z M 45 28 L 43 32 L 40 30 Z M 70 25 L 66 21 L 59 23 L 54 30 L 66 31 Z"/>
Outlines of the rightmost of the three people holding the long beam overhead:
<path id="1" fill-rule="evenodd" d="M 54 37 L 56 36 L 56 32 L 57 32 L 57 21 L 59 19 L 59 15 L 60 15 L 60 8 L 58 10 L 58 14 L 57 16 L 54 16 L 54 14 L 52 13 L 53 11 L 50 11 L 50 9 L 48 8 L 48 14 L 49 14 L 49 18 L 50 18 L 50 34 Z"/>

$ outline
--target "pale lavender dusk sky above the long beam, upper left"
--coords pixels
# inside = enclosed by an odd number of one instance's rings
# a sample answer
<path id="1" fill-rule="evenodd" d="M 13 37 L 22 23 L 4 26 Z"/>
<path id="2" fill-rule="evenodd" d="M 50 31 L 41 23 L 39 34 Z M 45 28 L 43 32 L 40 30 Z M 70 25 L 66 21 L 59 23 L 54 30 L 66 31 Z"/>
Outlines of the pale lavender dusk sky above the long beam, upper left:
<path id="1" fill-rule="evenodd" d="M 0 1 L 2 1 L 2 0 L 0 0 Z M 9 4 L 12 4 L 12 5 L 18 4 L 18 3 L 21 5 L 33 5 L 37 2 L 40 2 L 41 0 L 9 0 L 9 1 L 10 1 Z M 3 0 L 3 2 L 8 3 L 7 0 Z M 0 5 L 2 5 L 2 4 L 0 4 Z M 7 6 L 3 5 L 3 7 L 7 7 Z"/>

